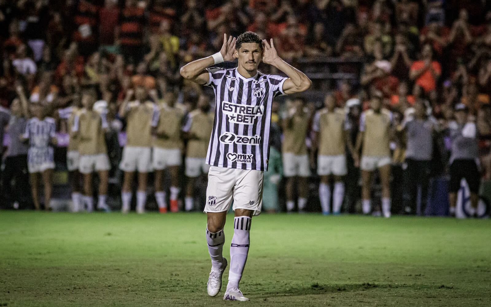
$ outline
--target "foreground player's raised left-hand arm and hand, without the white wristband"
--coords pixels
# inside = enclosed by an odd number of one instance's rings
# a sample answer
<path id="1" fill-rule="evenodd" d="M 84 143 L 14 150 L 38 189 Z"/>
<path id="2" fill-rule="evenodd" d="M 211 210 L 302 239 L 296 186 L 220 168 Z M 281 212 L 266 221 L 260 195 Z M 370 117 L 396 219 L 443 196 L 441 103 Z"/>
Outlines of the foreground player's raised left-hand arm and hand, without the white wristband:
<path id="1" fill-rule="evenodd" d="M 221 46 L 219 54 L 223 58 L 223 61 L 233 61 L 235 59 L 235 37 L 230 36 L 227 40 L 227 34 L 223 34 L 223 45 Z M 190 80 L 197 84 L 208 84 L 210 82 L 210 74 L 206 71 L 206 68 L 217 64 L 214 56 L 207 56 L 197 59 L 186 65 L 181 70 L 181 76 L 184 79 Z"/>

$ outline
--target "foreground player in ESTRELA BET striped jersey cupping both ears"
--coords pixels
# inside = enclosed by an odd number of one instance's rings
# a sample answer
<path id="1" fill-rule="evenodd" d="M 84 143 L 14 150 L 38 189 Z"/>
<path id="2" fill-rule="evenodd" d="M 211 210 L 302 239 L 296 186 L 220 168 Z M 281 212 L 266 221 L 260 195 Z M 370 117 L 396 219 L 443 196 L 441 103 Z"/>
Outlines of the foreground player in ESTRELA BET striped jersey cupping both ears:
<path id="1" fill-rule="evenodd" d="M 238 59 L 234 69 L 211 67 Z M 289 78 L 257 71 L 263 61 Z M 261 212 L 263 171 L 268 168 L 269 125 L 273 98 L 307 90 L 311 81 L 283 61 L 273 45 L 254 32 L 237 40 L 223 34 L 220 52 L 195 60 L 181 68 L 181 75 L 212 87 L 216 96 L 215 121 L 206 161 L 211 165 L 206 191 L 206 240 L 212 259 L 208 295 L 216 296 L 227 260 L 222 256 L 223 227 L 232 200 L 234 236 L 230 247 L 230 271 L 224 300 L 248 301 L 239 290 L 249 251 L 253 215 Z"/>

